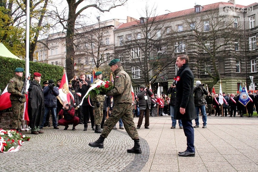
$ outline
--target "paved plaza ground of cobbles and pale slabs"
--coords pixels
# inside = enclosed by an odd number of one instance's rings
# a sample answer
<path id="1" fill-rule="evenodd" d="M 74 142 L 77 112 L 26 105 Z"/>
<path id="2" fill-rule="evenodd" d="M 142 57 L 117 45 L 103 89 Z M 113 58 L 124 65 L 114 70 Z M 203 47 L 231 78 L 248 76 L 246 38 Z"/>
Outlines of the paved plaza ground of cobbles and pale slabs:
<path id="1" fill-rule="evenodd" d="M 137 123 L 138 118 L 134 118 Z M 193 120 L 194 122 L 194 120 Z M 184 131 L 171 127 L 171 117 L 150 117 L 150 129 L 138 129 L 142 154 L 129 154 L 134 142 L 125 130 L 112 130 L 104 149 L 88 143 L 100 134 L 44 127 L 15 153 L 2 153 L 1 171 L 130 171 L 130 172 L 257 172 L 258 117 L 208 116 L 207 128 L 195 128 L 195 157 L 178 157 L 186 149 Z M 118 124 L 117 124 L 118 126 Z M 88 129 L 91 129 L 89 126 Z"/>

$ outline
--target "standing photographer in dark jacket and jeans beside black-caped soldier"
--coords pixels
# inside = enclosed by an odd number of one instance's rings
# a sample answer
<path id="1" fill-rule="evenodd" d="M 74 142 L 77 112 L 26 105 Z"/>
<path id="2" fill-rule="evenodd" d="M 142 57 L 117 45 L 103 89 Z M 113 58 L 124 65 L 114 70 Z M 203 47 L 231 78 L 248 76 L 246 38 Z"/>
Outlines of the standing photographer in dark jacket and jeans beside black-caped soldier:
<path id="1" fill-rule="evenodd" d="M 57 119 L 56 119 L 56 108 L 57 108 L 56 96 L 59 95 L 59 92 L 58 92 L 58 87 L 55 87 L 54 80 L 52 79 L 48 80 L 48 86 L 43 88 L 43 94 L 44 94 L 44 103 L 45 103 L 45 113 L 44 113 L 43 121 L 40 128 L 43 128 L 47 114 L 49 110 L 51 110 L 53 126 L 55 129 L 59 129 L 57 126 Z"/>

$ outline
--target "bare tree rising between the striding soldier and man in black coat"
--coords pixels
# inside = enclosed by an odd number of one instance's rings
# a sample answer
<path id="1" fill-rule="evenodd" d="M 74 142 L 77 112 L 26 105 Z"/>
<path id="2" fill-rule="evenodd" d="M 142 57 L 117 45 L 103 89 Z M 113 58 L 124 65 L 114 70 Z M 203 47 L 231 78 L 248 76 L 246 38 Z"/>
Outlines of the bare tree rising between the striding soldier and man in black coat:
<path id="1" fill-rule="evenodd" d="M 174 65 L 175 58 L 174 45 L 167 42 L 171 29 L 170 22 L 164 21 L 166 15 L 156 16 L 156 8 L 147 5 L 144 15 L 135 21 L 134 29 L 119 37 L 123 48 L 117 47 L 115 52 L 126 54 L 126 66 L 132 68 L 127 72 L 131 74 L 132 81 L 148 85 L 150 81 L 167 81 L 169 73 L 174 71 L 170 67 Z"/>

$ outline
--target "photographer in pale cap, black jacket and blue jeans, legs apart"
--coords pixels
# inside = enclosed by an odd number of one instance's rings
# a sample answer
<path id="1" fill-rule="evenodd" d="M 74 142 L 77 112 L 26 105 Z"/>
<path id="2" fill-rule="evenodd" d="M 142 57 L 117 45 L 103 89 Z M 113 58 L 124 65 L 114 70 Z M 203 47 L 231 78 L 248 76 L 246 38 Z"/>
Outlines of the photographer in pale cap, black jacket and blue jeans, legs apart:
<path id="1" fill-rule="evenodd" d="M 196 81 L 196 87 L 193 88 L 193 94 L 194 94 L 194 106 L 195 111 L 197 114 L 197 118 L 195 120 L 195 126 L 194 128 L 199 127 L 199 109 L 202 113 L 203 118 L 203 128 L 206 128 L 207 125 L 207 114 L 205 110 L 205 98 L 204 95 L 208 95 L 208 91 L 204 88 L 204 84 L 201 84 L 201 81 Z"/>

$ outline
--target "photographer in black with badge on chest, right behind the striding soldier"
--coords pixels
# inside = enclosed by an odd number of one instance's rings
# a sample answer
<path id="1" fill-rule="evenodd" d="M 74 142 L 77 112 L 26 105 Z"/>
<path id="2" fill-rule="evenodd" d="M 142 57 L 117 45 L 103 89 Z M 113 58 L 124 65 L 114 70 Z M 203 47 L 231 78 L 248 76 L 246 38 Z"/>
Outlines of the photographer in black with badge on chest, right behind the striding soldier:
<path id="1" fill-rule="evenodd" d="M 145 114 L 145 124 L 144 127 L 149 129 L 150 121 L 150 109 L 151 109 L 151 99 L 150 97 L 153 93 L 145 87 L 145 85 L 140 86 L 140 91 L 137 92 L 137 97 L 139 98 L 139 108 L 140 108 L 140 117 L 137 124 L 137 129 L 141 128 L 143 121 L 143 116 Z"/>

